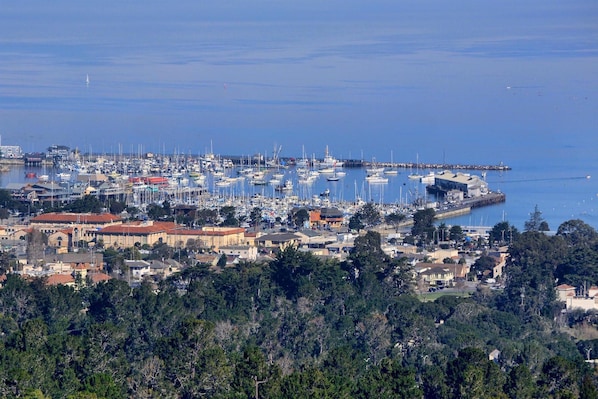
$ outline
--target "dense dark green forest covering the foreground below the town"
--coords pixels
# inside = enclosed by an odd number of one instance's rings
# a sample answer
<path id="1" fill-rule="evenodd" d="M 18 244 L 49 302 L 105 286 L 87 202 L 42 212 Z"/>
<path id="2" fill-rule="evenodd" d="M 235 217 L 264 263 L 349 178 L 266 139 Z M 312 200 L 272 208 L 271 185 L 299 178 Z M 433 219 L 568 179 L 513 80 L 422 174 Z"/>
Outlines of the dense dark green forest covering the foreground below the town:
<path id="1" fill-rule="evenodd" d="M 595 315 L 564 313 L 554 289 L 598 283 L 596 232 L 518 234 L 507 273 L 504 290 L 426 302 L 370 231 L 343 262 L 289 247 L 157 289 L 8 275 L 0 396 L 598 398 Z"/>

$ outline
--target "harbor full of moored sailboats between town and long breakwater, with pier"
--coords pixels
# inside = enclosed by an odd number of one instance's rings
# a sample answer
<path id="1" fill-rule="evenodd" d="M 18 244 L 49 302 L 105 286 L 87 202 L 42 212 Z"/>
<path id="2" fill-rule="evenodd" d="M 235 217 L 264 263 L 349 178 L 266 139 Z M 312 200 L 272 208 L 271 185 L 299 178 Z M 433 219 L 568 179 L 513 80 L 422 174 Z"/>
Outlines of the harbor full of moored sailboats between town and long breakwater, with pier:
<path id="1" fill-rule="evenodd" d="M 0 161 L 8 169 L 0 175 L 3 188 L 20 201 L 30 201 L 32 208 L 93 195 L 141 212 L 165 201 L 173 208 L 230 206 L 239 220 L 246 220 L 252 209 L 259 207 L 264 220 L 272 224 L 286 220 L 291 210 L 301 207 L 337 208 L 348 220 L 368 202 L 376 204 L 382 216 L 400 213 L 409 218 L 424 208 L 435 209 L 437 219 L 466 215 L 472 209 L 506 200 L 505 194 L 493 192 L 484 178 L 487 171 L 510 170 L 502 164 L 339 160 L 328 151 L 321 159 L 71 152 L 36 157 L 39 162 Z M 478 171 L 481 175 L 473 174 Z M 443 181 L 448 185 L 446 191 L 434 189 Z"/>

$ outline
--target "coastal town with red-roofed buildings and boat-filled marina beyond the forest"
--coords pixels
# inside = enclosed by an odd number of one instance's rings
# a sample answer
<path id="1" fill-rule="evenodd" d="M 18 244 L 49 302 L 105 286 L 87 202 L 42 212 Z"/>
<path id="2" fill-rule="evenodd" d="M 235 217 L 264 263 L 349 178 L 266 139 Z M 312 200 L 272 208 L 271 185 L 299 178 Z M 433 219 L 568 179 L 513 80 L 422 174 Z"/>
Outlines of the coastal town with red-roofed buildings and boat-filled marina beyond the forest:
<path id="1" fill-rule="evenodd" d="M 0 151 L 5 172 L 23 165 L 35 167 L 27 169 L 23 183 L 4 187 L 14 201 L 26 205 L 27 212 L 11 211 L 7 215 L 0 242 L 5 250 L 12 249 L 16 254 L 15 272 L 47 276 L 50 284 L 75 284 L 79 273 L 90 281 L 111 278 L 104 267 L 105 248 L 147 251 L 161 244 L 179 250 L 192 247 L 197 262 L 213 266 L 221 257 L 226 258 L 225 264 L 271 258 L 290 245 L 317 256 L 344 259 L 359 235 L 351 219 L 367 202 L 361 198 L 335 201 L 326 192 L 301 197 L 297 188 L 318 179 L 341 179 L 351 168 L 364 169 L 365 181 L 372 185 L 385 184 L 399 170 L 409 171 L 410 180 L 424 184 L 435 194 L 434 201 L 418 197 L 411 203 L 376 204 L 380 221 L 370 227 L 383 232 L 385 251 L 391 256 L 417 255 L 414 262 L 418 258 L 459 260 L 456 247 L 422 254 L 421 248 L 403 242 L 416 212 L 430 209 L 436 219 L 441 219 L 505 201 L 505 194 L 492 192 L 482 176 L 449 171 L 449 165 L 435 165 L 438 171 L 431 171 L 432 165 L 339 160 L 328 148 L 323 159 L 282 158 L 276 151 L 271 157 L 256 155 L 248 159 L 213 153 L 196 157 L 150 153 L 94 156 L 58 145 L 43 154 L 25 154 L 16 146 L 2 146 Z M 467 167 L 482 173 L 491 168 L 508 169 L 504 165 Z M 418 174 L 420 169 L 430 172 Z M 272 190 L 252 195 L 227 191 L 240 183 Z M 270 191 L 274 195 L 267 195 Z M 102 203 L 122 203 L 123 209 L 110 213 L 105 208 L 98 214 L 53 211 L 86 196 Z M 164 204 L 168 204 L 167 214 L 150 217 L 152 209 Z M 226 223 L 222 209 L 232 210 L 234 223 Z M 216 217 L 206 222 L 200 216 L 204 210 L 214 212 Z M 252 214 L 256 210 L 257 216 Z M 396 217 L 398 223 L 390 222 Z M 464 229 L 471 239 L 487 238 L 488 228 Z M 46 237 L 45 248 L 37 259 L 27 256 L 25 244 L 34 230 Z M 440 241 L 448 240 L 443 237 Z M 497 259 L 501 259 L 499 264 L 504 263 L 504 257 Z M 164 278 L 184 267 L 175 259 L 125 262 L 132 284 Z M 446 271 L 431 265 L 420 270 L 423 275 L 430 275 L 430 270 L 436 272 L 434 278 L 426 277 L 428 288 L 437 284 L 453 286 L 458 277 L 464 278 L 469 272 L 465 265 Z M 495 276 L 499 275 L 497 271 Z"/>

